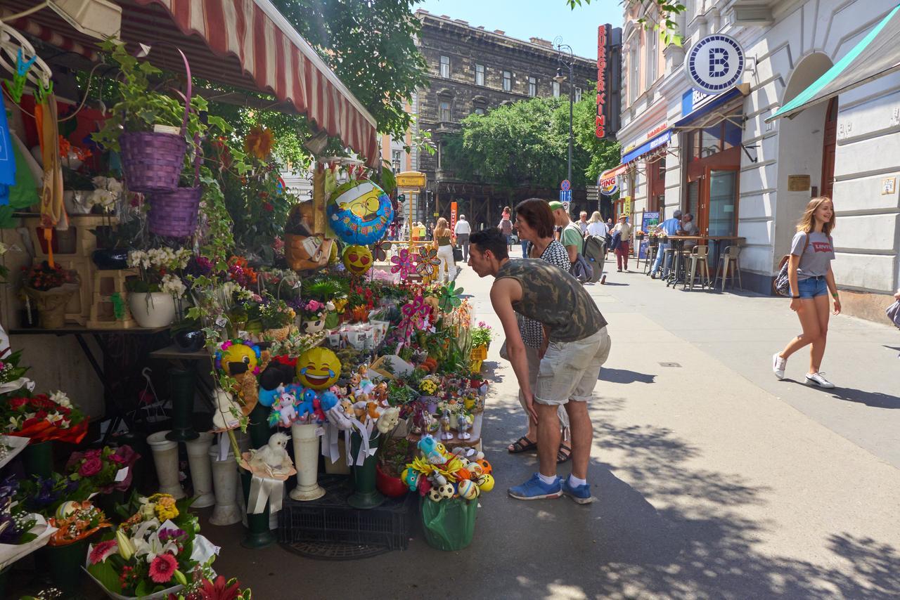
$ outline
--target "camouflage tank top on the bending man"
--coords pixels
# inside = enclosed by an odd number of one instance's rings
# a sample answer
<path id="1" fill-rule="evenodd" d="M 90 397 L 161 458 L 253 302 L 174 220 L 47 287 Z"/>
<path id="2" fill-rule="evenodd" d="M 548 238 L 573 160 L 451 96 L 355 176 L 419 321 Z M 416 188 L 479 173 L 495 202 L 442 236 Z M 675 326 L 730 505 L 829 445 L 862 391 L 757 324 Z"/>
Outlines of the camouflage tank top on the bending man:
<path id="1" fill-rule="evenodd" d="M 551 342 L 584 339 L 607 325 L 584 286 L 558 266 L 536 258 L 510 260 L 497 272 L 496 279 L 505 278 L 522 286 L 513 310 L 543 323 Z"/>

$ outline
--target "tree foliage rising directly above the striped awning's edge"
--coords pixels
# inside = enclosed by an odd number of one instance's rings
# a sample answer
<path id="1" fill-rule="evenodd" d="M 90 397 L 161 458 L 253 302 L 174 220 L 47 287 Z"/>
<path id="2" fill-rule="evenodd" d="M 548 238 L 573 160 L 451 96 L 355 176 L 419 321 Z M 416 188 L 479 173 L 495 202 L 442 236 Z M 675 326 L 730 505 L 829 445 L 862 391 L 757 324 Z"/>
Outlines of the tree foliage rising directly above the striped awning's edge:
<path id="1" fill-rule="evenodd" d="M 417 87 L 428 85 L 428 64 L 416 48 L 417 0 L 275 0 L 305 40 L 378 121 L 401 139 L 410 128 L 404 110 Z"/>

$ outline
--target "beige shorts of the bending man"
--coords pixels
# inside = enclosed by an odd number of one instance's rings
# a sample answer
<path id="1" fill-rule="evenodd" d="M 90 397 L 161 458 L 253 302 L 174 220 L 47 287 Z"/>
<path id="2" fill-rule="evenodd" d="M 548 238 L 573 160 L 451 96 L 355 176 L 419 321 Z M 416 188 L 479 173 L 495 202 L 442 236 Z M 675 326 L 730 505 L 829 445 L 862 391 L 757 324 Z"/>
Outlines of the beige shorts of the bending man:
<path id="1" fill-rule="evenodd" d="M 590 400 L 610 345 L 606 327 L 576 342 L 551 342 L 537 372 L 535 401 L 565 404 Z"/>

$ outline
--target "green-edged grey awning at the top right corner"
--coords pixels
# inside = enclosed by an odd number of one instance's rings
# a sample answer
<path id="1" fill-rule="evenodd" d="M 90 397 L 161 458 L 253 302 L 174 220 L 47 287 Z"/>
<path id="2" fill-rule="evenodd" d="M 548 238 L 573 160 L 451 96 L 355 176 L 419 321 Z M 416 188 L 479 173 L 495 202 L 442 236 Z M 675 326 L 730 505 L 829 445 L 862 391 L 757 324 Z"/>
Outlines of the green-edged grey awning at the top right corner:
<path id="1" fill-rule="evenodd" d="M 825 71 L 813 85 L 766 119 L 794 117 L 798 112 L 900 70 L 900 5 L 895 6 L 841 60 Z"/>

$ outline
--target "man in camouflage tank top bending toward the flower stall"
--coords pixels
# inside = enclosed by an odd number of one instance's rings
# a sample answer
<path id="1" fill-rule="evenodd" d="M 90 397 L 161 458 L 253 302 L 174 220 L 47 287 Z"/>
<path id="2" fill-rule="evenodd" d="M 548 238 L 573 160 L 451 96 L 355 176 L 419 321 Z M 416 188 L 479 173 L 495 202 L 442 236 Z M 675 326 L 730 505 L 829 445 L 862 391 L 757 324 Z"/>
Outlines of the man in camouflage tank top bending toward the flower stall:
<path id="1" fill-rule="evenodd" d="M 589 503 L 588 462 L 594 432 L 588 401 L 609 355 L 607 321 L 588 291 L 569 273 L 534 258 L 510 261 L 500 231 L 479 231 L 471 241 L 469 264 L 479 277 L 494 277 L 491 305 L 503 326 L 509 362 L 525 395 L 527 411 L 537 422 L 540 470 L 522 485 L 509 488 L 509 495 L 536 500 L 565 494 L 579 504 Z M 545 328 L 545 352 L 539 354 L 534 390 L 528 380 L 517 312 Z M 560 447 L 556 413 L 560 405 L 569 413 L 572 431 L 572 474 L 565 480 L 556 476 Z"/>

